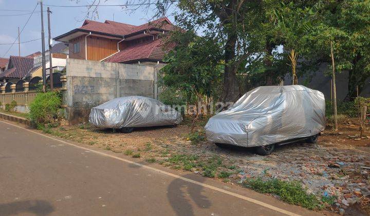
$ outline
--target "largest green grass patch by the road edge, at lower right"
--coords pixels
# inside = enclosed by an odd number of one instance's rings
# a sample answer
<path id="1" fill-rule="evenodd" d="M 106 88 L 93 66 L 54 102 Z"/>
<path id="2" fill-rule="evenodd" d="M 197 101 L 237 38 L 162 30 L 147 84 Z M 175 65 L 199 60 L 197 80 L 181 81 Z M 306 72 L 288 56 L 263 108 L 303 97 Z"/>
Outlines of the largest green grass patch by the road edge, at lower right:
<path id="1" fill-rule="evenodd" d="M 297 181 L 285 182 L 279 179 L 263 181 L 261 178 L 249 178 L 243 183 L 243 186 L 260 193 L 279 195 L 282 201 L 307 209 L 317 209 L 320 206 L 316 196 L 308 194 L 301 183 Z"/>

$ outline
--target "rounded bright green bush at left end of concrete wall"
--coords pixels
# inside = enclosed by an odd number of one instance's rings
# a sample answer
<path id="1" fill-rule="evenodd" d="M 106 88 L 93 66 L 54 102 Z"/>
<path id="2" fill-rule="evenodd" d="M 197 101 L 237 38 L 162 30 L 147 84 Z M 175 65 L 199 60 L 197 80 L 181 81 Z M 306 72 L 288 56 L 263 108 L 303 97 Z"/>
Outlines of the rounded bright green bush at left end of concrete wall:
<path id="1" fill-rule="evenodd" d="M 30 118 L 36 124 L 51 123 L 54 118 L 58 118 L 61 104 L 58 92 L 39 93 L 29 106 Z"/>

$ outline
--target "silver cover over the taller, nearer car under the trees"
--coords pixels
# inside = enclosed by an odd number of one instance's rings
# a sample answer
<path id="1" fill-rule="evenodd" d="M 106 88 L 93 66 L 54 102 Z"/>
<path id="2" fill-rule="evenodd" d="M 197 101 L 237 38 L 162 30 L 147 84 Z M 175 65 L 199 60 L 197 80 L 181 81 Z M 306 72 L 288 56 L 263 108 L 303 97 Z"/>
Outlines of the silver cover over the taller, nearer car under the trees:
<path id="1" fill-rule="evenodd" d="M 205 126 L 211 142 L 255 147 L 316 135 L 325 128 L 325 98 L 302 85 L 261 86 Z"/>

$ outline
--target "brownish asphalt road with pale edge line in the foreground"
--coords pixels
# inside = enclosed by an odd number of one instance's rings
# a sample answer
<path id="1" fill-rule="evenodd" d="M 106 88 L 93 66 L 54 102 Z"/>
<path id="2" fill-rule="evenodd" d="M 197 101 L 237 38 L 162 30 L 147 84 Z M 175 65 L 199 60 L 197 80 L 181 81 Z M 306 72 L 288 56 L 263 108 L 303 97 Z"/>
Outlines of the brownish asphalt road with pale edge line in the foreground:
<path id="1" fill-rule="evenodd" d="M 317 213 L 239 186 L 135 161 L 140 160 L 0 121 L 0 215 Z"/>

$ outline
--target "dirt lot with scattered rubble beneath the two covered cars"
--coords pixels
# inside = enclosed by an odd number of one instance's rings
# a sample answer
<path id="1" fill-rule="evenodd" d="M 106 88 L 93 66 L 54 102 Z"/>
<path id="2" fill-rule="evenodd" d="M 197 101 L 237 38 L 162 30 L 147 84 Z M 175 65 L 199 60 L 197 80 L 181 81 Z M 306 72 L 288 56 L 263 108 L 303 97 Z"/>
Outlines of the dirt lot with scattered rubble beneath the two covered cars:
<path id="1" fill-rule="evenodd" d="M 351 120 L 340 125 L 339 133 L 328 125 L 314 145 L 291 143 L 269 156 L 256 155 L 253 149 L 216 147 L 205 140 L 205 121 L 199 122 L 195 133 L 190 133 L 189 120 L 176 128 L 142 128 L 130 134 L 98 130 L 88 124 L 45 132 L 140 157 L 147 163 L 218 178 L 226 184 L 243 185 L 248 179 L 298 181 L 321 200 L 323 208 L 366 215 L 370 212 L 370 133 L 359 137 L 356 120 Z"/>

